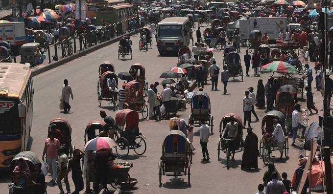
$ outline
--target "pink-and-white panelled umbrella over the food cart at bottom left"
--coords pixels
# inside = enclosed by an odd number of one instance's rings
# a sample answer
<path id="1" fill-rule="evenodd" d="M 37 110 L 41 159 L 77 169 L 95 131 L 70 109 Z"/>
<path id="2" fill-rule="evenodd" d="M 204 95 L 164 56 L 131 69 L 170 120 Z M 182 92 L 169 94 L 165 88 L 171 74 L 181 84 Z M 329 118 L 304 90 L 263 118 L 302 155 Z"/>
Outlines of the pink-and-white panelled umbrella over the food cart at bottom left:
<path id="1" fill-rule="evenodd" d="M 83 151 L 99 151 L 102 149 L 112 149 L 118 144 L 110 137 L 97 137 L 90 140 L 83 147 Z"/>

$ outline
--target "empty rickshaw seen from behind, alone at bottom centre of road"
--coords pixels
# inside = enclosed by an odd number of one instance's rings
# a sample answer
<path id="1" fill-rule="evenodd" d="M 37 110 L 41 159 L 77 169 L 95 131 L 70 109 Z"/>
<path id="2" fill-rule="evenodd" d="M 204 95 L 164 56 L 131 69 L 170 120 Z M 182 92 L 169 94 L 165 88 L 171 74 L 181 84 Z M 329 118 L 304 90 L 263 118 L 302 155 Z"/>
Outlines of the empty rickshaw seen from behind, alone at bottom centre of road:
<path id="1" fill-rule="evenodd" d="M 162 186 L 162 175 L 187 175 L 190 185 L 191 158 L 190 141 L 185 134 L 180 130 L 167 132 L 162 144 L 161 161 L 158 163 L 160 186 Z"/>

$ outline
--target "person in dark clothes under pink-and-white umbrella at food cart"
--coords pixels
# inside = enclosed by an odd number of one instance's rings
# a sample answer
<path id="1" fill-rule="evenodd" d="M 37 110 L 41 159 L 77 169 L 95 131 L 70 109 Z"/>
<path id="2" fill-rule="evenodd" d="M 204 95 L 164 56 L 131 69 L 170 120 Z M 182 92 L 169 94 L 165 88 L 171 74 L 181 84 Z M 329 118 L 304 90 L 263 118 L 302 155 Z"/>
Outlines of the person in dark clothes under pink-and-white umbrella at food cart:
<path id="1" fill-rule="evenodd" d="M 95 194 L 99 194 L 99 183 L 102 182 L 103 188 L 106 188 L 107 180 L 108 180 L 108 160 L 112 157 L 116 158 L 115 155 L 112 154 L 112 150 L 109 151 L 107 149 L 101 149 L 96 152 L 94 159 L 94 171 L 95 171 L 95 184 L 94 191 Z"/>

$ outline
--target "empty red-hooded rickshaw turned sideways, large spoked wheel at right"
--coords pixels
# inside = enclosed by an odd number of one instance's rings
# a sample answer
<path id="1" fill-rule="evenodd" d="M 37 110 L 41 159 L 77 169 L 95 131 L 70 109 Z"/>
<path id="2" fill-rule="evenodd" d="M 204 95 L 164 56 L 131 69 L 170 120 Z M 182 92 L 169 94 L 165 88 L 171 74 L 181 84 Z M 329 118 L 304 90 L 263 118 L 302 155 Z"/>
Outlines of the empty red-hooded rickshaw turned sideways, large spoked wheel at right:
<path id="1" fill-rule="evenodd" d="M 128 155 L 129 149 L 133 149 L 138 155 L 143 155 L 147 149 L 145 137 L 139 132 L 139 114 L 135 110 L 123 109 L 116 113 L 117 133 L 120 134 L 116 140 L 117 155 L 124 158 Z M 116 135 L 118 136 L 118 135 Z"/>

